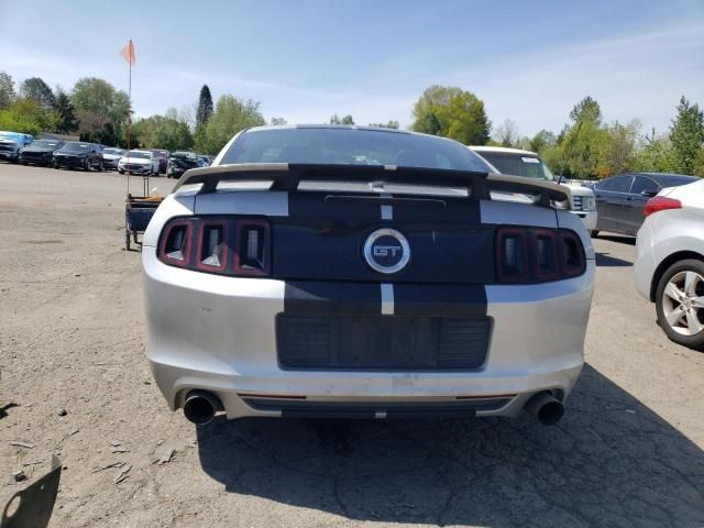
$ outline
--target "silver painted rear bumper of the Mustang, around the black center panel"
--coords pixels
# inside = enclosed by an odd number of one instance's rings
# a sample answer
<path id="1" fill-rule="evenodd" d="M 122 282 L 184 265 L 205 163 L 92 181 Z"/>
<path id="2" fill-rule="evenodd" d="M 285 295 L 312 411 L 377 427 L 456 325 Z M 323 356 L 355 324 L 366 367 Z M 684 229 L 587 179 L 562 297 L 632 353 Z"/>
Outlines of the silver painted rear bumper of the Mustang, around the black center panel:
<path id="1" fill-rule="evenodd" d="M 594 261 L 568 280 L 486 286 L 493 333 L 482 369 L 380 372 L 283 370 L 275 319 L 285 309 L 284 282 L 178 270 L 151 246 L 142 257 L 147 359 L 172 409 L 189 391 L 205 389 L 220 397 L 228 418 L 286 416 L 277 406 L 292 399 L 365 408 L 475 400 L 479 416 L 513 416 L 538 392 L 564 398 L 583 365 Z M 497 397 L 497 405 L 480 405 Z"/>

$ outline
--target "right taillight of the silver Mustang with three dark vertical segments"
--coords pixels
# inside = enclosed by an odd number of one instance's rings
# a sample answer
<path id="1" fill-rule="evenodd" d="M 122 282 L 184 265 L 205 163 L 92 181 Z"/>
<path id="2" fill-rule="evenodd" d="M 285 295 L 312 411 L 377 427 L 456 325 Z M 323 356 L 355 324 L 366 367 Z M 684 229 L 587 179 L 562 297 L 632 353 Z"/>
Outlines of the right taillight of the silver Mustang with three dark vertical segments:
<path id="1" fill-rule="evenodd" d="M 574 231 L 505 227 L 496 232 L 498 283 L 547 283 L 585 270 L 584 246 Z"/>

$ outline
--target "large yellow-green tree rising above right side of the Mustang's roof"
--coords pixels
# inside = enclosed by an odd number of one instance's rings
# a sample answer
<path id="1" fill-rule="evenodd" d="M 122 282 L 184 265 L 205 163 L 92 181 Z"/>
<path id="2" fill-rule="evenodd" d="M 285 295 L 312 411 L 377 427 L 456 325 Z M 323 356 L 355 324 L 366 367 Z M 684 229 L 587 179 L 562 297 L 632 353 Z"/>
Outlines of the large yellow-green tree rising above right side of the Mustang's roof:
<path id="1" fill-rule="evenodd" d="M 439 124 L 437 135 L 465 145 L 484 145 L 490 139 L 491 122 L 484 102 L 461 88 L 437 85 L 427 88 L 414 106 L 414 118 L 411 128 L 417 132 L 433 133 Z"/>

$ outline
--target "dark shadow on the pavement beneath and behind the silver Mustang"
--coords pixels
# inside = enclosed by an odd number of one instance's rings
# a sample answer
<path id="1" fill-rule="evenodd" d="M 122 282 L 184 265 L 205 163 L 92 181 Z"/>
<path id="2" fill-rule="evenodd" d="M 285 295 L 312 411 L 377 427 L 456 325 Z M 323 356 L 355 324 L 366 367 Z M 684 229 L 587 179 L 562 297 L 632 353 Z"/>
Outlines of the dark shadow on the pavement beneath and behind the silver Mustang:
<path id="1" fill-rule="evenodd" d="M 231 493 L 351 519 L 487 527 L 704 526 L 704 452 L 585 366 L 565 418 L 199 427 Z"/>

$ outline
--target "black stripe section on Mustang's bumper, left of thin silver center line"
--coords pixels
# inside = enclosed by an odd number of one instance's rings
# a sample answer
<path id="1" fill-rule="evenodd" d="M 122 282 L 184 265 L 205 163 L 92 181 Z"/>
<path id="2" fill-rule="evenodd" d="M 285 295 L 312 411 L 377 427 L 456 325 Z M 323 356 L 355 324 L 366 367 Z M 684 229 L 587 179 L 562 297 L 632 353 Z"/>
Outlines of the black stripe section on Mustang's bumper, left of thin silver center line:
<path id="1" fill-rule="evenodd" d="M 300 316 L 376 316 L 382 312 L 378 283 L 286 282 L 284 312 Z"/>

